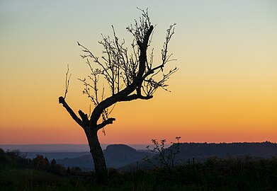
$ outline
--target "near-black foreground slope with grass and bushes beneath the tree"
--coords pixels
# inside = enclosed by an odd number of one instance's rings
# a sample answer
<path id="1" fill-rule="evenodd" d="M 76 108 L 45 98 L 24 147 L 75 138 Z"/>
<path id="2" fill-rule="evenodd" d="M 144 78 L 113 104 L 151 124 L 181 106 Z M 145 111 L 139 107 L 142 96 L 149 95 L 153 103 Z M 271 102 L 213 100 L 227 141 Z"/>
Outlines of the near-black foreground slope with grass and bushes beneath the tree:
<path id="1" fill-rule="evenodd" d="M 101 185 L 93 172 L 25 156 L 0 149 L 1 190 L 277 190 L 277 158 L 213 157 L 130 172 L 111 168 L 108 185 Z"/>

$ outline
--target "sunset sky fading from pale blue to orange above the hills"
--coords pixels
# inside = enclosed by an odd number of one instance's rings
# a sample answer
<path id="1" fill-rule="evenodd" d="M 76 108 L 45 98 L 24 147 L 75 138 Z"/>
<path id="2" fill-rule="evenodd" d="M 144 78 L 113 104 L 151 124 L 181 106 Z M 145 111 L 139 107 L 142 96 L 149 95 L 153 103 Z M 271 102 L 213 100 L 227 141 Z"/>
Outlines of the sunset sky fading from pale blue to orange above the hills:
<path id="1" fill-rule="evenodd" d="M 0 0 L 0 144 L 86 144 L 58 103 L 89 112 L 78 78 L 89 75 L 77 41 L 101 56 L 101 34 L 132 42 L 126 27 L 148 8 L 159 64 L 166 28 L 179 71 L 151 100 L 118 103 L 103 144 L 277 142 L 277 1 Z"/>

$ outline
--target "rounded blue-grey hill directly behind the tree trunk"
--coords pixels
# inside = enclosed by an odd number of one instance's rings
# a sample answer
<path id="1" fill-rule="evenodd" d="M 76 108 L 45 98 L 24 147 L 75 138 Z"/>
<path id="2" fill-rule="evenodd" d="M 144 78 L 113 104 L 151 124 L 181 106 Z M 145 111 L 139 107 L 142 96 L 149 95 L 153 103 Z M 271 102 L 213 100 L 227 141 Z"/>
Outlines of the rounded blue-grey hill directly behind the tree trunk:
<path id="1" fill-rule="evenodd" d="M 142 161 L 142 158 L 146 156 L 152 157 L 154 154 L 145 151 L 136 151 L 130 146 L 124 144 L 112 144 L 108 145 L 103 154 L 106 158 L 106 164 L 108 168 L 120 168 L 126 166 L 129 163 L 136 163 Z M 79 166 L 83 170 L 92 170 L 94 163 L 91 154 L 79 156 L 76 158 L 64 158 L 58 159 L 57 163 L 64 166 Z"/>

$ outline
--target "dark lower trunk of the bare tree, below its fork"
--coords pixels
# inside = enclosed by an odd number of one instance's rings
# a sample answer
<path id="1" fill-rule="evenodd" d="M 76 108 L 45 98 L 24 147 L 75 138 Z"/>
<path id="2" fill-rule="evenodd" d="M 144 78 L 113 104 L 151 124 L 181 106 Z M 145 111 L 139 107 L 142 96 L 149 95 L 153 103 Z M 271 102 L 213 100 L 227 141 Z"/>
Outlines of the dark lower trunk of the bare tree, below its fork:
<path id="1" fill-rule="evenodd" d="M 94 158 L 94 169 L 97 181 L 98 183 L 106 184 L 108 183 L 108 170 L 103 151 L 98 140 L 97 132 L 86 132 L 86 138 L 89 141 L 91 156 Z"/>

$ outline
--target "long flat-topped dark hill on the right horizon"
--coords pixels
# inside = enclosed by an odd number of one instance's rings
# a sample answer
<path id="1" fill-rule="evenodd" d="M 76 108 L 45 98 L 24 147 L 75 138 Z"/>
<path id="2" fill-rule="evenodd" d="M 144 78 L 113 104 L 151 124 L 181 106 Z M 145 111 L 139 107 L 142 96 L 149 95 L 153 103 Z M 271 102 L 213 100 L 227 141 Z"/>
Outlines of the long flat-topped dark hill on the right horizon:
<path id="1" fill-rule="evenodd" d="M 174 149 L 170 146 L 165 149 L 168 153 L 169 149 Z M 179 144 L 179 154 L 176 154 L 175 160 L 178 163 L 186 163 L 188 161 L 205 162 L 208 158 L 229 158 L 232 156 L 251 156 L 253 158 L 272 158 L 277 157 L 277 144 L 271 142 L 261 143 L 181 143 Z M 157 164 L 157 156 L 151 159 L 151 162 Z M 153 166 L 142 161 L 139 164 L 140 168 L 152 168 Z M 120 170 L 130 170 L 137 168 L 137 164 L 132 163 L 120 168 Z"/>

